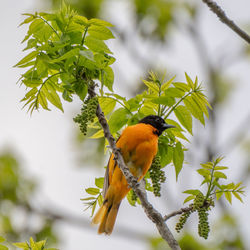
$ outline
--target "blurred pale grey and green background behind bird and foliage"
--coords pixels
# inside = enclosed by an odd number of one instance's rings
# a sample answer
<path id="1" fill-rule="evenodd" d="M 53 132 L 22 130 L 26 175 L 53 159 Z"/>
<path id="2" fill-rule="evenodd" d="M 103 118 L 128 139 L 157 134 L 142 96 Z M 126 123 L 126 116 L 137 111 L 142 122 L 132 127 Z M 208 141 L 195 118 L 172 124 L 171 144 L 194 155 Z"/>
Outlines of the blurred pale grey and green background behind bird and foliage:
<path id="1" fill-rule="evenodd" d="M 109 42 L 117 61 L 114 89 L 131 97 L 142 90 L 149 70 L 196 75 L 203 83 L 213 110 L 205 128 L 194 124 L 194 137 L 185 165 L 175 182 L 172 166 L 161 198 L 150 196 L 167 214 L 183 206 L 182 191 L 195 188 L 199 163 L 220 155 L 229 166 L 228 178 L 243 181 L 244 203 L 223 199 L 210 213 L 207 241 L 198 238 L 197 218 L 177 234 L 178 218 L 168 224 L 182 249 L 250 249 L 250 47 L 222 24 L 202 1 L 191 0 L 68 0 L 80 14 L 113 23 L 116 39 Z M 250 32 L 250 2 L 217 1 L 238 25 Z M 64 103 L 64 113 L 41 110 L 32 117 L 19 102 L 24 87 L 16 84 L 21 69 L 13 68 L 23 56 L 21 44 L 27 27 L 18 25 L 22 13 L 58 9 L 59 0 L 1 1 L 0 39 L 0 235 L 9 242 L 30 236 L 47 239 L 61 250 L 167 249 L 141 207 L 121 205 L 114 233 L 97 235 L 90 226 L 91 211 L 80 198 L 94 178 L 104 175 L 107 156 L 101 140 L 86 140 L 72 118 L 81 102 Z"/>

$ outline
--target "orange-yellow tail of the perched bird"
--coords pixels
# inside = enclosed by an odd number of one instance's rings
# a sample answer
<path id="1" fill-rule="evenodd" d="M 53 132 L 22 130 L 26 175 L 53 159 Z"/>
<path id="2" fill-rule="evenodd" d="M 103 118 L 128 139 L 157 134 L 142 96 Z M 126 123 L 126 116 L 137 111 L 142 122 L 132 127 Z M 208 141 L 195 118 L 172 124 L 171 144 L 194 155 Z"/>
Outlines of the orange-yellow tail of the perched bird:
<path id="1" fill-rule="evenodd" d="M 92 224 L 100 224 L 98 229 L 99 234 L 111 234 L 115 225 L 115 220 L 121 200 L 119 199 L 117 202 L 116 199 L 114 199 L 114 194 L 112 195 L 112 193 L 113 192 L 107 192 L 102 206 L 92 220 Z"/>

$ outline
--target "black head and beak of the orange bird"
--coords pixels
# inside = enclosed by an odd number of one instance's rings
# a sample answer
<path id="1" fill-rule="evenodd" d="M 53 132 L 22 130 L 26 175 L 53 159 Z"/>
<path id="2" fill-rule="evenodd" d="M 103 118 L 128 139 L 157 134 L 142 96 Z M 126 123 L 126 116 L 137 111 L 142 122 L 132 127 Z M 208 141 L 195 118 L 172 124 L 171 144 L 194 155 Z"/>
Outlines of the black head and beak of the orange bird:
<path id="1" fill-rule="evenodd" d="M 167 128 L 175 128 L 175 126 L 167 124 L 160 116 L 149 115 L 139 121 L 139 123 L 150 124 L 157 129 L 156 134 L 160 136 Z"/>

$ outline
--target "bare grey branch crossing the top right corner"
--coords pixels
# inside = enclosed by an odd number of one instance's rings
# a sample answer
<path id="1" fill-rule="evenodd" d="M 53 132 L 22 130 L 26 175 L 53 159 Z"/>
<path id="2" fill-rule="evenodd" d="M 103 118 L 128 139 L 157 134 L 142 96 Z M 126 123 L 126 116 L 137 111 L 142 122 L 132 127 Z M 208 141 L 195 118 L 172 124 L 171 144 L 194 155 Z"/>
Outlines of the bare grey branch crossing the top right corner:
<path id="1" fill-rule="evenodd" d="M 207 6 L 214 12 L 221 22 L 225 23 L 230 29 L 237 33 L 241 38 L 243 38 L 247 43 L 250 44 L 250 36 L 239 26 L 237 26 L 233 20 L 229 19 L 221 7 L 213 0 L 202 0 Z"/>

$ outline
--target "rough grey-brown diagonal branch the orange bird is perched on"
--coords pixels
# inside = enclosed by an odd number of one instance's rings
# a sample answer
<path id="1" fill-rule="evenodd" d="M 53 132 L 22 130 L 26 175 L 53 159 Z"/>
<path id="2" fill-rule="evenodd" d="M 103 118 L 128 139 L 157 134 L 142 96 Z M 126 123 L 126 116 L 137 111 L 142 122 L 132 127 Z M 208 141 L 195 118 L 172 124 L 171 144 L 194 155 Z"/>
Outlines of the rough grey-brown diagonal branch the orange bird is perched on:
<path id="1" fill-rule="evenodd" d="M 95 86 L 96 84 L 90 80 L 90 85 L 89 85 L 89 95 L 90 97 L 95 97 Z M 133 188 L 135 191 L 136 195 L 139 197 L 141 201 L 141 205 L 144 209 L 144 212 L 148 216 L 148 218 L 155 223 L 161 237 L 168 243 L 168 245 L 173 249 L 173 250 L 180 250 L 180 246 L 174 236 L 172 235 L 171 231 L 169 230 L 167 224 L 165 223 L 163 217 L 161 214 L 154 209 L 154 207 L 149 203 L 146 193 L 144 190 L 141 188 L 140 183 L 137 182 L 137 179 L 130 173 L 128 167 L 125 165 L 123 157 L 120 153 L 120 150 L 116 147 L 116 142 L 114 137 L 111 135 L 110 130 L 109 130 L 109 125 L 107 123 L 107 120 L 101 110 L 100 105 L 97 106 L 96 109 L 96 116 L 98 117 L 98 120 L 103 128 L 104 136 L 108 140 L 109 145 L 112 149 L 112 152 L 115 156 L 115 160 L 118 163 L 118 166 L 120 167 L 122 173 L 124 174 L 129 186 Z"/>

